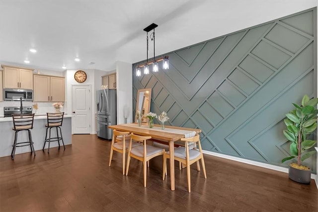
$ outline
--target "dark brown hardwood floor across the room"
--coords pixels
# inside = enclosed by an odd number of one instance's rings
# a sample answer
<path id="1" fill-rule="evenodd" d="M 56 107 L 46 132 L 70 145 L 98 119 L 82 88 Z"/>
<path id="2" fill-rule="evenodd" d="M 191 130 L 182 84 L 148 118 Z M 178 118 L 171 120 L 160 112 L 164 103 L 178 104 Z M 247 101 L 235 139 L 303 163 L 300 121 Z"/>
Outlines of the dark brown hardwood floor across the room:
<path id="1" fill-rule="evenodd" d="M 2 138 L 3 139 L 3 138 Z M 58 150 L 0 158 L 0 211 L 292 211 L 317 212 L 314 180 L 303 185 L 286 173 L 204 155 L 207 179 L 191 166 L 191 193 L 186 170 L 176 164 L 175 191 L 162 181 L 162 156 L 150 162 L 147 188 L 143 165 L 132 159 L 122 175 L 121 154 L 108 167 L 110 141 L 96 135 L 73 135 L 73 144 Z M 169 172 L 169 170 L 168 170 Z"/>

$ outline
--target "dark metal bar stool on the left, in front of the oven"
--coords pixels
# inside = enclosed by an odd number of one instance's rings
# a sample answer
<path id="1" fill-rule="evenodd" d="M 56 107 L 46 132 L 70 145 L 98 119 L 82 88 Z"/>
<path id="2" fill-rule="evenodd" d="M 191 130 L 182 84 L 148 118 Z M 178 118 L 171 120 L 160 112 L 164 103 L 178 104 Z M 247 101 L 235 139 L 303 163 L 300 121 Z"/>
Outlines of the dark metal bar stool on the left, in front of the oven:
<path id="1" fill-rule="evenodd" d="M 33 152 L 34 156 L 35 156 L 35 150 L 34 150 L 31 131 L 30 131 L 30 129 L 33 129 L 34 113 L 31 113 L 31 114 L 12 114 L 12 119 L 13 119 L 13 128 L 12 129 L 15 131 L 14 143 L 12 145 L 13 148 L 12 148 L 12 152 L 11 152 L 12 160 L 14 160 L 16 147 L 21 147 L 21 146 L 30 145 L 31 154 Z M 17 142 L 18 132 L 23 131 L 23 130 L 28 131 L 29 140 Z"/>

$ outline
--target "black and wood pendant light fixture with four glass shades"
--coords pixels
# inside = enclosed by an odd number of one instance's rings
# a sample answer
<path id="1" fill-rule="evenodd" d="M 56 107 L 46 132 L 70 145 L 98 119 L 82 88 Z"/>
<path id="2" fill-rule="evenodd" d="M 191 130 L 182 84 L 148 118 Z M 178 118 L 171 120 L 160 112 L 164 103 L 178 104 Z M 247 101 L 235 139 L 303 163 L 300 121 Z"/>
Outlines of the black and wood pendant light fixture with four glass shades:
<path id="1" fill-rule="evenodd" d="M 160 61 L 162 61 L 162 69 L 163 70 L 167 70 L 169 69 L 169 57 L 165 56 L 159 60 L 156 60 L 155 58 L 155 28 L 158 25 L 155 23 L 150 24 L 149 26 L 147 26 L 146 28 L 144 28 L 144 31 L 147 32 L 147 62 L 145 65 L 140 65 L 137 66 L 136 68 L 136 76 L 140 77 L 141 76 L 141 68 L 144 67 L 144 74 L 147 75 L 150 73 L 149 70 L 149 65 L 153 64 L 153 72 L 159 72 L 159 63 Z M 149 51 L 149 37 L 148 37 L 148 32 L 150 32 L 151 30 L 154 30 L 153 33 L 151 33 L 150 38 L 152 41 L 154 41 L 154 60 L 152 62 L 148 62 L 148 51 Z"/>

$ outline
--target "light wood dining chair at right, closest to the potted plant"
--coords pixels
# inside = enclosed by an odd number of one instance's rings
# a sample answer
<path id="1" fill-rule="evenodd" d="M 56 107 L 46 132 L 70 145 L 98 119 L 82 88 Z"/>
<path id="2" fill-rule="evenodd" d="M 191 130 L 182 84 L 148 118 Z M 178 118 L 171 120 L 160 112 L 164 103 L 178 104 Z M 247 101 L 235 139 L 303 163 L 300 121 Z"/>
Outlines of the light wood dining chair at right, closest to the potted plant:
<path id="1" fill-rule="evenodd" d="M 203 153 L 202 153 L 202 148 L 201 148 L 201 143 L 200 143 L 200 135 L 195 135 L 194 137 L 191 138 L 181 138 L 181 141 L 185 142 L 184 147 L 180 146 L 176 149 L 174 149 L 174 160 L 179 161 L 180 163 L 185 164 L 186 169 L 187 169 L 187 179 L 188 179 L 188 191 L 189 193 L 191 192 L 191 180 L 190 180 L 190 165 L 193 163 L 197 163 L 197 170 L 200 171 L 200 164 L 199 160 L 201 159 L 202 163 L 202 169 L 204 173 L 204 178 L 207 178 L 207 174 L 205 171 L 205 164 L 204 164 L 204 159 L 203 159 Z M 195 142 L 195 147 L 194 149 L 189 149 L 189 142 Z M 196 146 L 199 146 L 199 149 L 196 148 Z M 167 174 L 166 172 L 166 159 L 169 158 L 169 152 L 166 152 L 163 155 L 163 175 L 162 175 L 162 180 L 164 180 L 165 175 Z"/>

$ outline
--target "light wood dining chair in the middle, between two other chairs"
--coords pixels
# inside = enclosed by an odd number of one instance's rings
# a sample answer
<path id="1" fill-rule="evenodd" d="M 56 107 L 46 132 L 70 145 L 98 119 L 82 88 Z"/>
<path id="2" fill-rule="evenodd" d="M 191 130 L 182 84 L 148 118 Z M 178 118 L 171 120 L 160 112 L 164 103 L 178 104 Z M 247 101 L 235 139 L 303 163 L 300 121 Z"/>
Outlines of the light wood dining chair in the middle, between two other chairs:
<path id="1" fill-rule="evenodd" d="M 127 157 L 127 168 L 126 168 L 126 176 L 128 176 L 130 158 L 135 158 L 143 162 L 144 165 L 144 187 L 146 187 L 147 183 L 147 162 L 159 155 L 164 154 L 164 149 L 158 148 L 152 145 L 147 145 L 146 141 L 151 139 L 151 136 L 140 136 L 131 134 L 130 144 L 129 144 L 129 154 Z M 134 142 L 143 143 L 141 146 L 133 147 Z M 163 171 L 164 173 L 164 171 Z"/>

